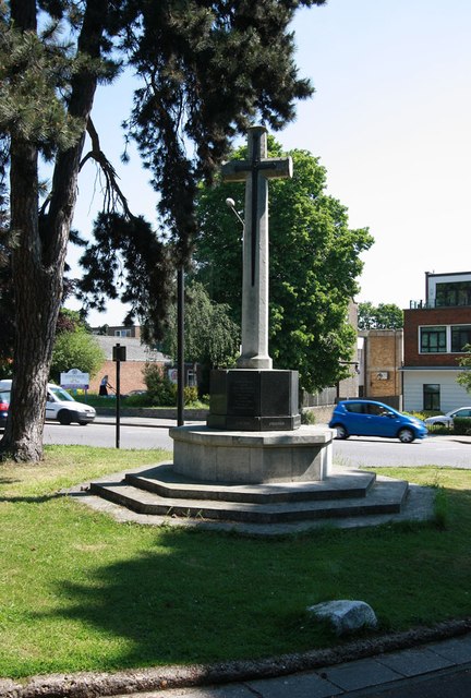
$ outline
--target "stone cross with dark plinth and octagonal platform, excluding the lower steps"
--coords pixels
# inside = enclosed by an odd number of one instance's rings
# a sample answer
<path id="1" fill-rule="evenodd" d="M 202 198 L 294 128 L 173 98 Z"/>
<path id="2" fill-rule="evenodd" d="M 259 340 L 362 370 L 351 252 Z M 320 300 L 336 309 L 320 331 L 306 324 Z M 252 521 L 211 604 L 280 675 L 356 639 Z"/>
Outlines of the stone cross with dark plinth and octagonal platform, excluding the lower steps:
<path id="1" fill-rule="evenodd" d="M 300 430 L 298 371 L 273 369 L 268 354 L 268 180 L 292 177 L 292 160 L 267 157 L 264 127 L 249 130 L 247 159 L 222 166 L 245 182 L 242 351 L 237 368 L 213 371 L 207 426 L 171 430 L 173 468 L 217 482 L 323 480 L 333 432 Z"/>

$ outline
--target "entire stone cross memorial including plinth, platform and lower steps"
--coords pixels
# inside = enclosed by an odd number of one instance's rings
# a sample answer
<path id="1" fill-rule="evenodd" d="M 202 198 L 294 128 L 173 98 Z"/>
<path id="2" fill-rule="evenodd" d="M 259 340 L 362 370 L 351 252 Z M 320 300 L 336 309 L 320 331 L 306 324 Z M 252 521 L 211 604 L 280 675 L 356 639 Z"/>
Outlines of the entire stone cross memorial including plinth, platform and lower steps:
<path id="1" fill-rule="evenodd" d="M 334 430 L 301 424 L 299 376 L 268 353 L 268 180 L 292 177 L 291 158 L 267 157 L 267 132 L 250 128 L 247 159 L 222 165 L 245 182 L 242 349 L 235 369 L 212 374 L 205 425 L 170 429 L 173 461 L 93 482 L 90 493 L 157 521 L 249 527 L 267 534 L 329 520 L 355 526 L 424 518 L 404 481 L 333 465 Z M 423 494 L 423 493 L 422 493 Z M 147 521 L 147 519 L 146 519 Z M 352 522 L 353 521 L 353 522 Z M 213 522 L 213 524 L 212 524 Z"/>

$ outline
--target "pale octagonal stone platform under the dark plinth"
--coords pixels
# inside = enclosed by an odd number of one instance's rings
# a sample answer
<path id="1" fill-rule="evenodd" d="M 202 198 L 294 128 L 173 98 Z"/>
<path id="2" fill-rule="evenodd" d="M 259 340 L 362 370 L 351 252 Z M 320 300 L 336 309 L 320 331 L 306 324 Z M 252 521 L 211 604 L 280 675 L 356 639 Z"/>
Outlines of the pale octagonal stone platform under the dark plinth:
<path id="1" fill-rule="evenodd" d="M 219 431 L 174 426 L 176 472 L 213 482 L 319 481 L 333 458 L 334 430 L 303 425 L 297 431 Z"/>

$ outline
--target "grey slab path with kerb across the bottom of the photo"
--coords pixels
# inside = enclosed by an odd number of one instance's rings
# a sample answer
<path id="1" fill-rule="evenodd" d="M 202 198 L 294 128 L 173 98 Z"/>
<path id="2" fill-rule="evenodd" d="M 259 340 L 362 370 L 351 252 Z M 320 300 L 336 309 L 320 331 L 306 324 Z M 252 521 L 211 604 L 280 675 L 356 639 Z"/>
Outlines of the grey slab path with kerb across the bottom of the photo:
<path id="1" fill-rule="evenodd" d="M 297 655 L 298 657 L 298 655 Z M 160 667 L 121 674 L 69 674 L 36 677 L 25 683 L 0 679 L 4 698 L 469 698 L 471 696 L 471 633 L 402 650 L 286 674 L 282 662 L 247 664 L 245 675 L 216 685 L 218 667 Z M 276 669 L 278 667 L 278 671 Z M 224 673 L 224 672 L 222 672 Z M 208 676 L 212 676 L 209 681 Z M 180 688 L 146 690 L 154 685 Z M 191 686 L 195 683 L 200 686 Z M 126 689 L 130 693 L 126 693 Z M 138 690 L 140 693 L 133 693 Z"/>

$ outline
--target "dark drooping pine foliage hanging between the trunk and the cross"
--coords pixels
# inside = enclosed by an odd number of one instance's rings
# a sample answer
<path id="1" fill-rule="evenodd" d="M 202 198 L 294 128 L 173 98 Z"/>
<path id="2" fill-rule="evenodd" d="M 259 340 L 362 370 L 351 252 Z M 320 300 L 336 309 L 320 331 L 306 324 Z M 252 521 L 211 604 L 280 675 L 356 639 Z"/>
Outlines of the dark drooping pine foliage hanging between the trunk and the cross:
<path id="1" fill-rule="evenodd" d="M 82 289 L 99 306 L 102 298 L 117 297 L 119 287 L 124 288 L 121 297 L 132 308 L 128 320 L 138 317 L 148 340 L 162 336 L 170 270 L 185 264 L 192 250 L 197 182 L 213 180 L 231 140 L 254 119 L 280 129 L 294 117 L 294 100 L 312 94 L 309 81 L 298 76 L 287 27 L 298 7 L 323 3 L 134 1 L 113 14 L 122 27 L 120 49 L 142 77 L 125 128 L 159 192 L 158 231 L 165 244 L 155 243 L 146 252 L 158 286 L 145 303 L 136 289 L 145 286 L 146 274 L 136 268 L 126 243 L 117 240 L 112 257 L 100 255 L 99 241 L 88 250 Z M 112 258 L 114 270 L 124 268 L 124 275 L 110 274 Z M 133 281 L 140 277 L 137 284 L 123 286 L 123 276 L 126 280 L 130 274 Z"/>

